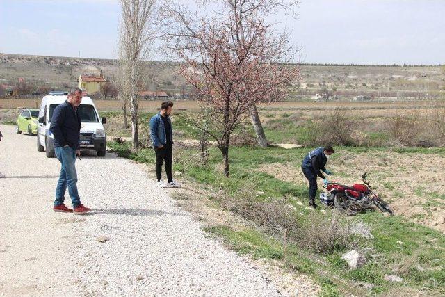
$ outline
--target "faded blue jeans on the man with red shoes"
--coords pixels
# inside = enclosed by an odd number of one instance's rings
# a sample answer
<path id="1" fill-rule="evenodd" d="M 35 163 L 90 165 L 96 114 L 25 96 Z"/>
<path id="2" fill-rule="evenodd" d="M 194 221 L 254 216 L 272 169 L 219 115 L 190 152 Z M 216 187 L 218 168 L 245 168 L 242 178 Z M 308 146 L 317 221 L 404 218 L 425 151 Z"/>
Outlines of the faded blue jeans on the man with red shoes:
<path id="1" fill-rule="evenodd" d="M 77 172 L 76 172 L 76 151 L 71 147 L 54 147 L 58 161 L 62 163 L 60 169 L 60 177 L 58 177 L 56 188 L 56 201 L 54 205 L 63 204 L 65 200 L 65 191 L 68 186 L 72 206 L 77 207 L 81 204 L 81 198 L 77 192 Z"/>

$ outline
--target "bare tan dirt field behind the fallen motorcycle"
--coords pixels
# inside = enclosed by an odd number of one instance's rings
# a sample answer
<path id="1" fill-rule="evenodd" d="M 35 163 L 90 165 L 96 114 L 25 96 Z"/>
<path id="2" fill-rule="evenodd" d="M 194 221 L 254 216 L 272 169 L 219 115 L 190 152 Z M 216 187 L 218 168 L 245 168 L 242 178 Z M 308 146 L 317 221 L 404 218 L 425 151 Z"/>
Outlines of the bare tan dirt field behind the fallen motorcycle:
<path id="1" fill-rule="evenodd" d="M 299 160 L 298 160 L 299 161 Z M 272 163 L 257 170 L 277 179 L 305 184 L 300 163 Z M 369 172 L 371 186 L 390 203 L 397 215 L 445 232 L 445 156 L 397 152 L 338 152 L 328 163 L 342 184 L 360 182 Z M 321 180 L 318 180 L 321 188 Z"/>

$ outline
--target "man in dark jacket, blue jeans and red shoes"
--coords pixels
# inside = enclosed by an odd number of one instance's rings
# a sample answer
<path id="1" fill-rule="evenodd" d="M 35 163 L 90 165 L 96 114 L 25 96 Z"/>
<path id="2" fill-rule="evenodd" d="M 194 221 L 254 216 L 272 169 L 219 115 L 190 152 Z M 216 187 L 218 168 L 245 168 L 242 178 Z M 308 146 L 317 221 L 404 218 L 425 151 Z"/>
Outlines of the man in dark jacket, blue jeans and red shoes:
<path id="1" fill-rule="evenodd" d="M 77 172 L 76 156 L 81 155 L 80 151 L 80 131 L 81 118 L 77 109 L 82 101 L 82 90 L 74 89 L 63 104 L 54 109 L 49 130 L 54 136 L 54 151 L 58 161 L 62 164 L 60 177 L 56 188 L 56 201 L 54 201 L 54 211 L 72 212 L 84 214 L 90 211 L 89 208 L 81 204 L 81 198 L 77 192 Z M 69 209 L 63 204 L 65 191 L 68 192 L 72 200 L 73 209 Z"/>

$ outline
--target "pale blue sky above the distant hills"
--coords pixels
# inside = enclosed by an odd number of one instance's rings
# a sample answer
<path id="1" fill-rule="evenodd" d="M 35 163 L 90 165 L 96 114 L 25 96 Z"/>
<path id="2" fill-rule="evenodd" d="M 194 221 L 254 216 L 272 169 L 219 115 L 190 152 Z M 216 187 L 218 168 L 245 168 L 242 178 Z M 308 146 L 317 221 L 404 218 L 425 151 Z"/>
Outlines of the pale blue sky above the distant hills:
<path id="1" fill-rule="evenodd" d="M 0 0 L 0 52 L 115 58 L 117 0 Z M 444 64 L 445 0 L 302 0 L 279 15 L 305 63 Z"/>

